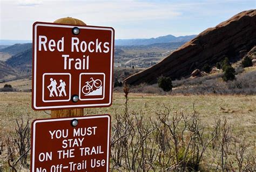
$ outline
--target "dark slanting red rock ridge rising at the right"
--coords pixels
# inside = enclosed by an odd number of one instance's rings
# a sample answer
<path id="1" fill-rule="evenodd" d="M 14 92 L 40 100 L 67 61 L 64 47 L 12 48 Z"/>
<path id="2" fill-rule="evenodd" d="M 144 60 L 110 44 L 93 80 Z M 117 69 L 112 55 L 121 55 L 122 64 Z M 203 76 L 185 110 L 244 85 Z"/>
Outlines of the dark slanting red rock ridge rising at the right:
<path id="1" fill-rule="evenodd" d="M 153 84 L 160 75 L 177 79 L 186 77 L 205 64 L 214 65 L 228 57 L 241 59 L 256 45 L 256 10 L 238 13 L 219 25 L 201 32 L 196 38 L 172 52 L 158 64 L 133 74 L 124 81 L 130 85 Z"/>

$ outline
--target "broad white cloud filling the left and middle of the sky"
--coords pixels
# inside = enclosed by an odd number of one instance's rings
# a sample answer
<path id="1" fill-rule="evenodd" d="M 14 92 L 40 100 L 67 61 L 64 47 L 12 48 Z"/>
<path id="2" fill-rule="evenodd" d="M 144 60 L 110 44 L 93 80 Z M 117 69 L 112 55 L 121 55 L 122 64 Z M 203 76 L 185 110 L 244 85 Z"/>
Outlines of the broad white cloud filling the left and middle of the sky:
<path id="1" fill-rule="evenodd" d="M 180 15 L 170 5 L 137 1 L 3 1 L 0 36 L 1 39 L 31 39 L 33 22 L 53 22 L 63 17 L 78 18 L 89 25 L 118 27 Z"/>

